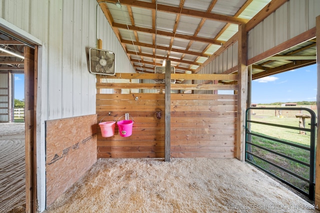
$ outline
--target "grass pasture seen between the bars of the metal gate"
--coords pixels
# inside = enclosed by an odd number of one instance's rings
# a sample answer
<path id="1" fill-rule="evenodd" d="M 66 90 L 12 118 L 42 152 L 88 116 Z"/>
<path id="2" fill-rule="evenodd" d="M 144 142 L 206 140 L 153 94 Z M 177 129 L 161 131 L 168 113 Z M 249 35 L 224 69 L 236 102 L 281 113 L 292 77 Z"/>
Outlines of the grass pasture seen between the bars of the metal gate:
<path id="1" fill-rule="evenodd" d="M 267 106 L 267 107 L 274 107 L 274 106 Z M 302 106 L 303 107 L 303 106 Z M 296 114 L 305 114 L 310 115 L 308 111 L 305 110 L 265 110 L 263 108 L 253 109 L 251 111 L 251 120 L 259 121 L 264 123 L 271 123 L 271 124 L 279 124 L 285 125 L 290 127 L 299 127 L 299 118 L 296 118 Z M 310 107 L 307 107 L 310 108 Z M 305 119 L 305 128 L 310 129 L 310 119 Z M 305 135 L 300 134 L 299 130 L 288 129 L 288 128 L 281 128 L 281 127 L 274 127 L 268 126 L 263 124 L 255 124 L 251 123 L 251 132 L 257 133 L 260 135 L 268 136 L 271 138 L 275 138 L 281 141 L 285 141 L 292 144 L 301 145 L 304 147 L 310 147 L 310 132 L 306 131 Z M 308 150 L 304 150 L 301 148 L 293 147 L 290 145 L 282 144 L 273 140 L 264 139 L 257 136 L 252 136 L 251 139 L 252 143 L 262 146 L 264 148 L 273 150 L 275 152 L 281 153 L 293 159 L 305 162 L 309 164 L 310 160 L 310 152 Z M 309 179 L 309 167 L 302 165 L 300 163 L 294 162 L 292 160 L 286 159 L 284 157 L 278 156 L 266 150 L 257 148 L 252 146 L 252 153 L 256 154 L 263 159 L 266 159 L 273 164 L 280 166 L 288 171 L 291 171 L 302 179 Z M 295 187 L 299 188 L 300 190 L 308 193 L 309 184 L 301 180 L 285 171 L 282 171 L 269 163 L 266 163 L 256 157 L 253 157 L 253 160 L 256 165 L 270 171 L 271 173 L 275 174 L 279 178 L 285 180 L 286 182 L 294 185 Z"/>

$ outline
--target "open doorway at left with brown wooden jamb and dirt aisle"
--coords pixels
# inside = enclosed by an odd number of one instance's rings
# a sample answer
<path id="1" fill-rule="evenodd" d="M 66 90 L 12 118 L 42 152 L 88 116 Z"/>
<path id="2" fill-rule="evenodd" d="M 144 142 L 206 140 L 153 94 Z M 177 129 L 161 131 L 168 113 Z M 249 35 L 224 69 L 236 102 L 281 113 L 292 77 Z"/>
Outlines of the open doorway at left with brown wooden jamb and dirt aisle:
<path id="1" fill-rule="evenodd" d="M 2 199 L 6 201 L 1 202 L 0 209 L 6 212 L 32 212 L 36 201 L 33 127 L 35 126 L 36 92 L 34 88 L 36 88 L 36 81 L 34 79 L 37 76 L 35 69 L 37 46 L 7 28 L 0 27 L 0 35 L 1 83 L 7 82 L 6 86 L 0 86 L 1 89 L 5 88 L 7 98 L 4 106 L 7 111 L 7 114 L 4 115 L 6 118 L 2 117 L 0 123 L 0 125 L 6 124 L 6 128 L 1 128 L 0 140 L 1 145 L 6 147 L 6 153 L 10 153 L 0 155 L 1 168 L 4 168 L 0 174 L 0 190 L 1 196 L 5 196 L 1 198 L 1 201 Z M 14 122 L 14 93 L 17 92 L 14 91 L 14 74 L 23 74 L 24 78 L 24 122 L 20 123 Z M 3 80 L 4 77 L 6 77 L 5 80 Z M 2 164 L 6 166 L 2 167 Z"/>

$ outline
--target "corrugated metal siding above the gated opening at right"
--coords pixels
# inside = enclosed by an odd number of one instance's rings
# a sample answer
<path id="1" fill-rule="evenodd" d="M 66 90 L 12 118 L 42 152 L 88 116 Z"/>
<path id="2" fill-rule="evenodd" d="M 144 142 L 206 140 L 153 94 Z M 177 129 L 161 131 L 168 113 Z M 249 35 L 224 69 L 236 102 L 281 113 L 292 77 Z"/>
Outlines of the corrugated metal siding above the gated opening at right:
<path id="1" fill-rule="evenodd" d="M 289 0 L 248 32 L 248 58 L 315 27 L 319 0 Z"/>

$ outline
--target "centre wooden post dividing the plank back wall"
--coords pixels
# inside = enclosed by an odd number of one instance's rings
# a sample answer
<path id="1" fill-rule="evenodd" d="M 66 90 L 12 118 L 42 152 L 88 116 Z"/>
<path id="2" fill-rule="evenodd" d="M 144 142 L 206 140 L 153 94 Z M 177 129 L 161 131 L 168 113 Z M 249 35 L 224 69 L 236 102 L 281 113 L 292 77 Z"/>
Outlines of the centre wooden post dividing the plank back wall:
<path id="1" fill-rule="evenodd" d="M 170 105 L 171 105 L 171 61 L 167 60 L 165 62 L 165 138 L 164 138 L 164 161 L 169 162 L 170 161 L 170 120 L 171 120 L 171 114 L 170 114 Z"/>

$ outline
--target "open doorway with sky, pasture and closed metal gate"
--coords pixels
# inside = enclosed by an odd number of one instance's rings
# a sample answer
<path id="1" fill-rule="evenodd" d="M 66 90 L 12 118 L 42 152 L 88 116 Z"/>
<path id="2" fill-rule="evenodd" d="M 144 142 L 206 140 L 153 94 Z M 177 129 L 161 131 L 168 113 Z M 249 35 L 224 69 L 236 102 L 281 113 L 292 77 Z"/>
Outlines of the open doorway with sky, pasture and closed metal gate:
<path id="1" fill-rule="evenodd" d="M 246 161 L 314 201 L 316 64 L 252 81 Z"/>

